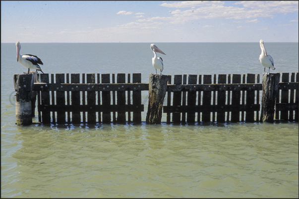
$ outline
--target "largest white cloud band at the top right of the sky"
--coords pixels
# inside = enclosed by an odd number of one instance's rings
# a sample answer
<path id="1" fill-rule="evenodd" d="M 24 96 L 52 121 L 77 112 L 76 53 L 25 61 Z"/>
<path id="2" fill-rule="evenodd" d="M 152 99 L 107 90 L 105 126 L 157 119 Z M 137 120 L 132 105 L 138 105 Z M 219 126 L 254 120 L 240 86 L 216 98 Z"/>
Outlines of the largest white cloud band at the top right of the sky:
<path id="1" fill-rule="evenodd" d="M 240 5 L 240 6 L 236 6 Z M 223 1 L 179 1 L 165 2 L 161 6 L 180 8 L 170 11 L 172 24 L 184 24 L 199 19 L 247 19 L 246 23 L 257 23 L 257 17 L 273 17 L 275 14 L 298 12 L 298 1 L 239 1 L 225 6 Z M 193 9 L 181 9 L 192 8 Z M 248 20 L 252 19 L 253 20 Z"/>

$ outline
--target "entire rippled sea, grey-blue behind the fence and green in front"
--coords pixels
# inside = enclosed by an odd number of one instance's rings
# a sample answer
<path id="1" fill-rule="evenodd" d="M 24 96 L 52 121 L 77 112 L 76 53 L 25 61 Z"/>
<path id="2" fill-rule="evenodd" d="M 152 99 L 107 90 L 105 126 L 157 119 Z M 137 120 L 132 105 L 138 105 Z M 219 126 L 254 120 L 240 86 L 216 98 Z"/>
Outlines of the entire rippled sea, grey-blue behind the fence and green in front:
<path id="1" fill-rule="evenodd" d="M 258 42 L 156 44 L 164 75 L 264 71 Z M 155 73 L 150 43 L 21 45 L 45 73 Z M 265 47 L 270 72 L 298 72 L 298 43 Z M 298 122 L 18 127 L 12 77 L 26 71 L 1 43 L 1 197 L 299 197 Z"/>

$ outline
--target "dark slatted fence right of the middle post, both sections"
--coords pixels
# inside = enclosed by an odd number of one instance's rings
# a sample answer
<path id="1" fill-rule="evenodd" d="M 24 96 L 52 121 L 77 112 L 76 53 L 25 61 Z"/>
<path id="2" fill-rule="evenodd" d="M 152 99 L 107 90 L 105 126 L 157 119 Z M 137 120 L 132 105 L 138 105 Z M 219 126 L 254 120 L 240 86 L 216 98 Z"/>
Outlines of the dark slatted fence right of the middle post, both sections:
<path id="1" fill-rule="evenodd" d="M 298 73 L 290 82 L 289 73 L 282 74 L 275 119 L 298 121 L 298 80 Z M 168 123 L 261 121 L 261 91 L 259 74 L 175 75 L 164 113 Z"/>

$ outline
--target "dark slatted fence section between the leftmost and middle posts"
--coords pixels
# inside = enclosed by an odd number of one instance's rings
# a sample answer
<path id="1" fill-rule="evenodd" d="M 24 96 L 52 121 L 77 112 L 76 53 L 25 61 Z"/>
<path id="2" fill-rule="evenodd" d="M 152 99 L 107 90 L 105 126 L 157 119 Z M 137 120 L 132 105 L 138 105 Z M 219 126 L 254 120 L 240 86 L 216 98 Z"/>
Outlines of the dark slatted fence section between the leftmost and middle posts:
<path id="1" fill-rule="evenodd" d="M 141 91 L 148 84 L 141 83 L 141 74 L 40 74 L 40 83 L 34 83 L 38 91 L 38 116 L 43 123 L 110 123 L 141 122 Z M 86 80 L 85 80 L 86 79 Z M 101 83 L 100 83 L 101 81 Z M 112 96 L 111 96 L 112 95 Z M 131 103 L 132 102 L 132 103 Z M 132 117 L 131 117 L 132 112 Z M 57 113 L 57 114 L 55 114 Z M 101 114 L 102 113 L 102 114 Z M 116 113 L 118 113 L 116 115 Z M 86 117 L 87 115 L 87 117 Z M 101 116 L 102 115 L 102 116 Z"/>

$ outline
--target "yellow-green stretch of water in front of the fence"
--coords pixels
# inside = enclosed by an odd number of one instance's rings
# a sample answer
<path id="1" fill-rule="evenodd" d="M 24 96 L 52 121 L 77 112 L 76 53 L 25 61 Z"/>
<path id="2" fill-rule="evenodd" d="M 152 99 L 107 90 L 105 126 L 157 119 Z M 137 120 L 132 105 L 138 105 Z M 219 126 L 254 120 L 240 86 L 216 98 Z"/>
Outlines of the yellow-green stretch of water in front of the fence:
<path id="1" fill-rule="evenodd" d="M 298 197 L 298 123 L 33 125 L 5 136 L 18 144 L 2 197 Z"/>

